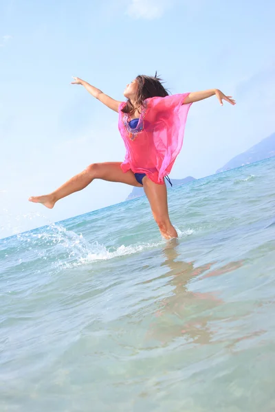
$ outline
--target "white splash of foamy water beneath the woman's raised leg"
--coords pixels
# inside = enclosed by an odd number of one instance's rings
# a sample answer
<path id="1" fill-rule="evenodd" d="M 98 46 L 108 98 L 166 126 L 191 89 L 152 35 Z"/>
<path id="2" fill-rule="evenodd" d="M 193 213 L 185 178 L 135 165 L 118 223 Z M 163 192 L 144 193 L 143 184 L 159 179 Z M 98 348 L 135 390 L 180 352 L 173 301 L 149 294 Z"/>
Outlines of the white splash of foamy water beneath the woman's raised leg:
<path id="1" fill-rule="evenodd" d="M 41 218 L 42 216 L 40 214 L 23 216 L 28 220 L 36 217 Z M 195 233 L 190 228 L 181 230 L 176 227 L 176 229 L 179 239 Z M 59 223 L 52 222 L 44 227 L 18 233 L 14 235 L 14 238 L 17 242 L 14 244 L 14 240 L 12 240 L 12 245 L 8 245 L 8 253 L 11 258 L 14 257 L 11 260 L 12 266 L 21 263 L 18 261 L 20 251 L 20 256 L 25 263 L 36 260 L 37 271 L 43 270 L 47 265 L 47 268 L 50 267 L 55 272 L 63 268 L 73 268 L 100 260 L 111 260 L 133 253 L 141 253 L 166 244 L 166 240 L 160 237 L 157 242 L 137 242 L 136 244 L 108 247 L 98 241 L 88 242 L 81 233 L 77 234 Z"/>

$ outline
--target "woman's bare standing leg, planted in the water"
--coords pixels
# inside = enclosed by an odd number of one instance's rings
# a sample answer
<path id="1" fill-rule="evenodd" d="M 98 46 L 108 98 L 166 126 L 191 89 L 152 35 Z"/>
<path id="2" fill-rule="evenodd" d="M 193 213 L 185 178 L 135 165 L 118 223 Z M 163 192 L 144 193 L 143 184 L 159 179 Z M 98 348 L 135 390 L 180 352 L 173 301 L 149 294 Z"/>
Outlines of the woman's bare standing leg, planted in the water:
<path id="1" fill-rule="evenodd" d="M 167 189 L 166 185 L 157 185 L 147 176 L 142 179 L 144 192 L 151 206 L 153 217 L 160 233 L 166 239 L 177 238 L 177 231 L 170 222 L 168 214 Z"/>

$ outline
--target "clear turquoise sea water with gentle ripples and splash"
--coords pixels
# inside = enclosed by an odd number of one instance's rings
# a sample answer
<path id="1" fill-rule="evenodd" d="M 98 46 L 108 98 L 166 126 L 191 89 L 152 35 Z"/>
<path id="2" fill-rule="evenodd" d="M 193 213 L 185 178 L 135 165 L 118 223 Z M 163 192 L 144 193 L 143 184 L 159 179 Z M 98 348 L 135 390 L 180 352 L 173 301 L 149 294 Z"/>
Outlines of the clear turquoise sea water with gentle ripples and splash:
<path id="1" fill-rule="evenodd" d="M 1 239 L 0 411 L 275 411 L 274 170 Z"/>

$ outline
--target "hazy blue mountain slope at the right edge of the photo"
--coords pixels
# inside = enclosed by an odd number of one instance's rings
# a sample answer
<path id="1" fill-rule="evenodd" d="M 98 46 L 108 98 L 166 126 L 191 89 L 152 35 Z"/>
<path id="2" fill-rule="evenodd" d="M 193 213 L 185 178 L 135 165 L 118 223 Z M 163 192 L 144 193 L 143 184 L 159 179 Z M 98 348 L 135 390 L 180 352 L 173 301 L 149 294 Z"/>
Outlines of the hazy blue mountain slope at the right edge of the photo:
<path id="1" fill-rule="evenodd" d="M 252 146 L 252 148 L 246 152 L 241 153 L 241 155 L 233 157 L 223 168 L 218 169 L 216 173 L 239 168 L 239 166 L 249 165 L 250 163 L 254 163 L 254 161 L 268 159 L 273 156 L 275 156 L 275 133 L 266 137 L 260 141 L 260 143 L 255 144 L 255 146 Z"/>

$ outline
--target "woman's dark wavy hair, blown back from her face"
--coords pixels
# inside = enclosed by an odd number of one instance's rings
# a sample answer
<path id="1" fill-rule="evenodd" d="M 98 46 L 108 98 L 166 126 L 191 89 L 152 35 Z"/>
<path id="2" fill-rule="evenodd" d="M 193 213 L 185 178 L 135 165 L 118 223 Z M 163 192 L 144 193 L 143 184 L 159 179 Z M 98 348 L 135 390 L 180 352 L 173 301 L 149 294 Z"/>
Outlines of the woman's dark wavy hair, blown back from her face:
<path id="1" fill-rule="evenodd" d="M 163 80 L 157 76 L 157 72 L 155 72 L 154 77 L 142 74 L 137 76 L 135 80 L 137 80 L 137 100 L 135 103 L 138 108 L 143 106 L 145 99 L 155 98 L 156 96 L 159 96 L 160 98 L 168 96 L 168 91 L 164 89 L 162 85 Z M 126 105 L 122 108 L 122 112 L 132 114 L 134 111 L 135 107 L 128 99 Z"/>

